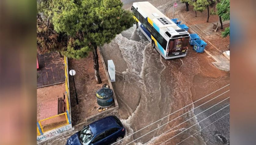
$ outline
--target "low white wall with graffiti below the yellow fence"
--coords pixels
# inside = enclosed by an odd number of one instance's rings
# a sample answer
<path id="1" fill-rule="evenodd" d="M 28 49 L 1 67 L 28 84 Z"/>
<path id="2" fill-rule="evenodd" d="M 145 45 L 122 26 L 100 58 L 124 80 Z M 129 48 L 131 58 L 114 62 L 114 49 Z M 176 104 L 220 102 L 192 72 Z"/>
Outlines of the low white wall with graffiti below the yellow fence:
<path id="1" fill-rule="evenodd" d="M 64 133 L 65 131 L 67 131 L 67 130 L 69 130 L 71 128 L 72 128 L 72 126 L 70 124 L 68 126 L 64 126 L 64 127 L 59 128 L 59 129 L 52 130 L 49 133 L 45 133 L 45 134 L 43 134 L 41 136 L 38 136 L 36 140 L 38 142 L 49 140 L 49 139 L 51 139 L 51 138 L 53 138 L 55 136 L 58 136 L 58 135 Z"/>

